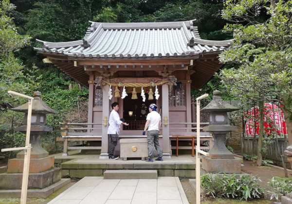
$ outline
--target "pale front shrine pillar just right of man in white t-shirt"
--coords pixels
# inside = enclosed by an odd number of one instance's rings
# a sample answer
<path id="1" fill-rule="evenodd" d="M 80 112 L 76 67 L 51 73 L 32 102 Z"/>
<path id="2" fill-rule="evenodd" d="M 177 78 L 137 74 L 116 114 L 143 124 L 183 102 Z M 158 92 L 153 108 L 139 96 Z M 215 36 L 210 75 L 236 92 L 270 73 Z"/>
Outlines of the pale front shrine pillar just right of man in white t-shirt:
<path id="1" fill-rule="evenodd" d="M 170 157 L 170 141 L 169 141 L 169 103 L 168 103 L 168 85 L 162 85 L 162 136 L 163 136 L 163 156 Z"/>

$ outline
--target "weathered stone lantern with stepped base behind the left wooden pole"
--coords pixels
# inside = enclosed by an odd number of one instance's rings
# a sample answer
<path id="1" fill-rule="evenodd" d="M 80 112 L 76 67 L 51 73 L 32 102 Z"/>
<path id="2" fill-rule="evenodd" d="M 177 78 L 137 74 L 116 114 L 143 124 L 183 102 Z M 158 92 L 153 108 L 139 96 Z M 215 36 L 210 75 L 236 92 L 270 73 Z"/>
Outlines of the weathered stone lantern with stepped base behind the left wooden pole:
<path id="1" fill-rule="evenodd" d="M 47 132 L 51 132 L 52 128 L 46 126 L 46 114 L 57 113 L 47 106 L 40 98 L 41 93 L 34 93 L 31 118 L 30 143 L 32 145 L 28 188 L 38 188 L 37 193 L 28 192 L 28 197 L 45 198 L 54 192 L 54 187 L 63 185 L 65 180 L 61 180 L 61 168 L 54 168 L 55 157 L 49 156 L 49 153 L 40 146 L 40 137 Z M 24 112 L 24 126 L 15 130 L 26 133 L 28 103 L 20 105 L 11 110 Z M 15 159 L 9 159 L 7 164 L 7 173 L 0 174 L 0 195 L 2 189 L 15 189 L 15 194 L 10 197 L 18 197 L 21 190 L 21 180 L 24 164 L 24 151 L 17 154 Z M 54 184 L 54 185 L 52 185 Z M 57 188 L 56 188 L 57 189 Z M 18 192 L 19 191 L 19 192 Z"/>

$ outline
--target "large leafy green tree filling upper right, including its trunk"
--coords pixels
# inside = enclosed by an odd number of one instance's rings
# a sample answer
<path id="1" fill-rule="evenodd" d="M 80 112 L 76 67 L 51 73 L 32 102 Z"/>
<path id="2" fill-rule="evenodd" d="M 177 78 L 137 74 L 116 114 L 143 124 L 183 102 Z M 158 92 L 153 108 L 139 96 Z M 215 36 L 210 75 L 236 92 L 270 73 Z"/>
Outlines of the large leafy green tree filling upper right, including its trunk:
<path id="1" fill-rule="evenodd" d="M 264 22 L 261 12 L 269 16 Z M 239 67 L 222 70 L 223 84 L 242 101 L 256 101 L 259 107 L 264 102 L 282 105 L 292 144 L 292 1 L 227 0 L 222 17 L 235 24 L 225 27 L 226 32 L 233 32 L 234 42 L 220 61 Z M 260 128 L 258 166 L 262 162 Z"/>

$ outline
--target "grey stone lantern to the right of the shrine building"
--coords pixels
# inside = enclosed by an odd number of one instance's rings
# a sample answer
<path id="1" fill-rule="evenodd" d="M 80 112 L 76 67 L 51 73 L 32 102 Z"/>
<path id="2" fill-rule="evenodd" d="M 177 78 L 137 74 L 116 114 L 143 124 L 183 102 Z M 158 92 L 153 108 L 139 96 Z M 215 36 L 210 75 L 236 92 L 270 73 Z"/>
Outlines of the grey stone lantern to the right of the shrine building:
<path id="1" fill-rule="evenodd" d="M 208 152 L 209 156 L 202 158 L 202 168 L 214 173 L 240 173 L 240 160 L 235 159 L 233 153 L 225 146 L 226 135 L 236 130 L 236 127 L 230 125 L 227 112 L 239 108 L 223 101 L 219 95 L 220 91 L 214 91 L 213 100 L 201 110 L 210 114 L 210 125 L 203 127 L 203 130 L 211 133 L 214 138 L 213 148 Z"/>

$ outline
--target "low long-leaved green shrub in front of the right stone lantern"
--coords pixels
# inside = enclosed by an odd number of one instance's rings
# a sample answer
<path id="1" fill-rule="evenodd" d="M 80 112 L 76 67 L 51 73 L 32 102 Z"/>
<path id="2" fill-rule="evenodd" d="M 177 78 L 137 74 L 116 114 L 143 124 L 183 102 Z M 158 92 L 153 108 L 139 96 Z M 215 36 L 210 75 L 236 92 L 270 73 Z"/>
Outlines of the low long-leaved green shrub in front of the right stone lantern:
<path id="1" fill-rule="evenodd" d="M 235 174 L 207 173 L 201 176 L 201 186 L 209 197 L 236 199 L 256 199 L 264 196 L 264 188 L 258 184 L 256 176 L 243 175 L 239 179 Z"/>

